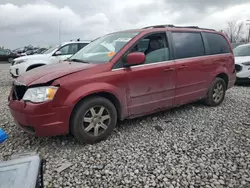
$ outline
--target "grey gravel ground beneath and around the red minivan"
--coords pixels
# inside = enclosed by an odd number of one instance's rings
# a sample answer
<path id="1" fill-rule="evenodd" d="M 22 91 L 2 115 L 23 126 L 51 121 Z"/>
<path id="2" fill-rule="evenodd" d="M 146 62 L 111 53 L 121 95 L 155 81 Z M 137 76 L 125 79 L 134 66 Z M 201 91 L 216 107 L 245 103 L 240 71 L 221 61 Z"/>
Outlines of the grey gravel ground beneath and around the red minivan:
<path id="1" fill-rule="evenodd" d="M 19 130 L 7 108 L 10 77 L 0 75 L 0 127 L 9 135 L 0 160 L 38 151 L 45 187 L 250 187 L 250 87 L 232 88 L 219 107 L 196 103 L 127 120 L 108 140 L 81 145 Z"/>

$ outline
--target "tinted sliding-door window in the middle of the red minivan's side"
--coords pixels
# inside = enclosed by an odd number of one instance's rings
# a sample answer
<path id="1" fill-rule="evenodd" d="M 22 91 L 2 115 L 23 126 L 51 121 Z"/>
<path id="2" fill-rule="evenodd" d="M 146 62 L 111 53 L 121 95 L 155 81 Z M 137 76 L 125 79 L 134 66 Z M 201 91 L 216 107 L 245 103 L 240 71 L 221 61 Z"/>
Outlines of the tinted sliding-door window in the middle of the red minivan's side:
<path id="1" fill-rule="evenodd" d="M 205 48 L 200 33 L 173 32 L 172 36 L 176 59 L 205 55 Z"/>

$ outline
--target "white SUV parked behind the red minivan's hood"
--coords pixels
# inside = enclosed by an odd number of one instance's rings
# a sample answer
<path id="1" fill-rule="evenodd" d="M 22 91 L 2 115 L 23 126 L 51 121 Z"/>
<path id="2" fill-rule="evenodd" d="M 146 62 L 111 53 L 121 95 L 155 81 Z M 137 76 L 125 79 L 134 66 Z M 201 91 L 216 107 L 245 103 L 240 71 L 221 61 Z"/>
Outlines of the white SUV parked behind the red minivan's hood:
<path id="1" fill-rule="evenodd" d="M 54 46 L 42 54 L 28 55 L 13 60 L 10 74 L 13 78 L 43 65 L 59 63 L 66 60 L 91 41 L 73 41 Z"/>

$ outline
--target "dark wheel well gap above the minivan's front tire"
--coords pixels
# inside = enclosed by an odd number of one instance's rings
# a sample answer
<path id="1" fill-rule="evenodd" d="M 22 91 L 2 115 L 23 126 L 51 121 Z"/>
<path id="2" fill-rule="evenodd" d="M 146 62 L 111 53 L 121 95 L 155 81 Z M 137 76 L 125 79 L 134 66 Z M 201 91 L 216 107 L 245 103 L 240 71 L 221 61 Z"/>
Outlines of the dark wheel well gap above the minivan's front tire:
<path id="1" fill-rule="evenodd" d="M 78 106 L 78 104 L 80 104 L 83 100 L 87 99 L 87 98 L 90 98 L 90 97 L 103 97 L 103 98 L 106 98 L 108 99 L 110 102 L 112 102 L 116 108 L 116 111 L 117 111 L 117 117 L 118 119 L 121 118 L 121 103 L 120 101 L 117 99 L 117 97 L 111 93 L 108 93 L 108 92 L 98 92 L 98 93 L 93 93 L 93 94 L 90 94 L 90 95 L 87 95 L 85 97 L 83 97 L 80 101 L 78 101 L 78 103 L 74 106 L 74 109 L 72 111 L 71 114 L 73 114 L 74 110 L 76 109 L 76 107 Z"/>

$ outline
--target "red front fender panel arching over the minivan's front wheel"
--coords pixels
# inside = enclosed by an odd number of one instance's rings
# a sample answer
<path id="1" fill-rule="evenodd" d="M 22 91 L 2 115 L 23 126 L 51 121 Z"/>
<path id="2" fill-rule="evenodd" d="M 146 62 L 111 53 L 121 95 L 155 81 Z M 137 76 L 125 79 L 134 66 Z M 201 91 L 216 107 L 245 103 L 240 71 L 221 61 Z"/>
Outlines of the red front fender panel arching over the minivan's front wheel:
<path id="1" fill-rule="evenodd" d="M 126 108 L 126 89 L 125 88 L 118 88 L 114 85 L 109 83 L 90 83 L 83 86 L 78 87 L 74 91 L 71 91 L 69 96 L 66 98 L 64 105 L 71 106 L 76 105 L 81 99 L 87 97 L 92 94 L 98 94 L 100 92 L 106 92 L 114 95 L 121 105 L 122 115 L 127 114 Z"/>

